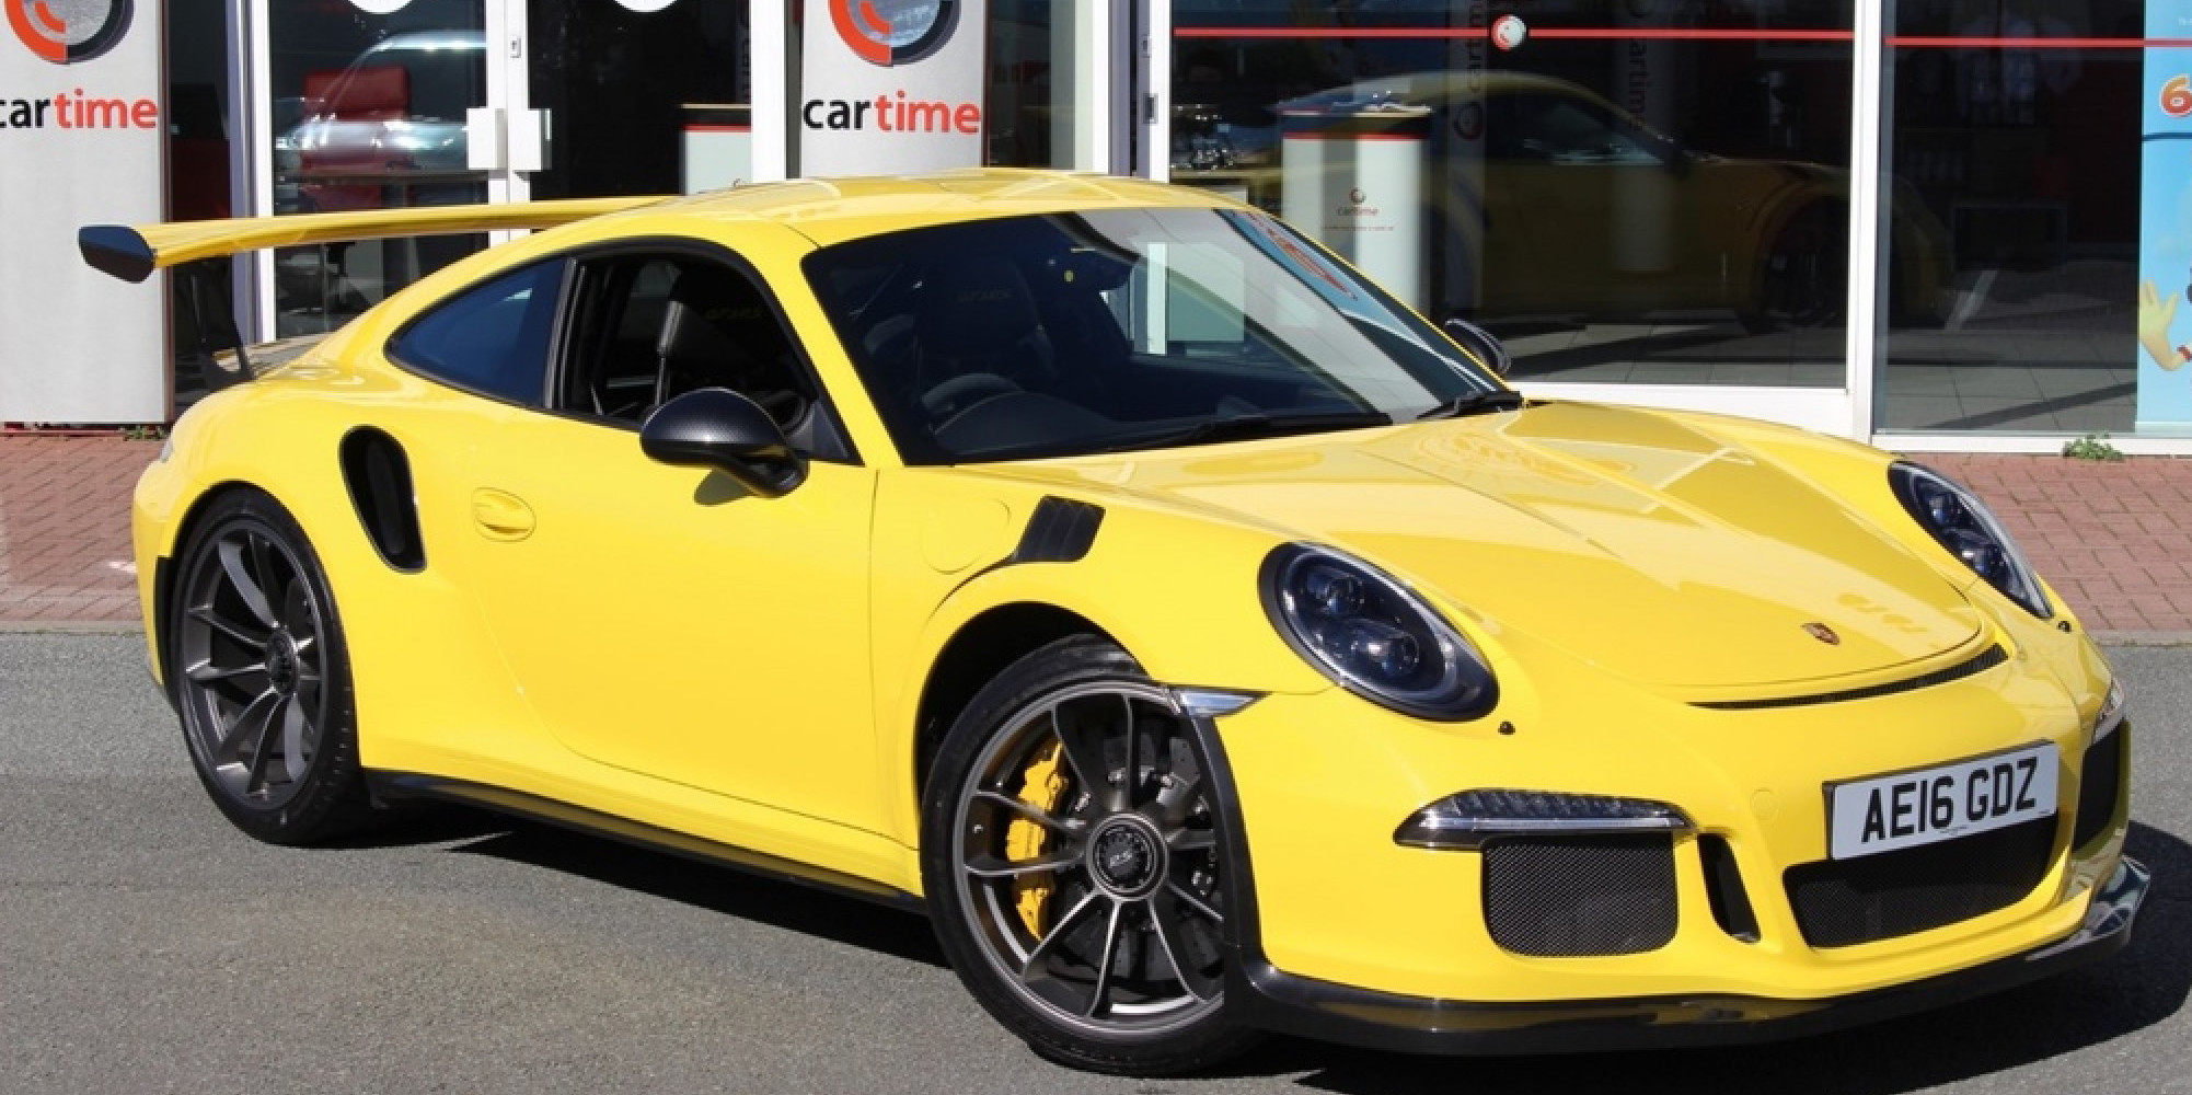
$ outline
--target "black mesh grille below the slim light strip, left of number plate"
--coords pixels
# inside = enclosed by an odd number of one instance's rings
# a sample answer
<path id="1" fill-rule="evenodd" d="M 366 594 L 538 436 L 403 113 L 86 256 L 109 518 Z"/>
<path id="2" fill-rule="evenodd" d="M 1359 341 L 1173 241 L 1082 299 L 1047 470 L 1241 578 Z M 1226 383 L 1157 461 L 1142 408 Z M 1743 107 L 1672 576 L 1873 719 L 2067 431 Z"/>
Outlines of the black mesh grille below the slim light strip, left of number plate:
<path id="1" fill-rule="evenodd" d="M 1493 841 L 1484 848 L 1484 924 L 1517 955 L 1657 950 L 1675 937 L 1675 839 Z"/>

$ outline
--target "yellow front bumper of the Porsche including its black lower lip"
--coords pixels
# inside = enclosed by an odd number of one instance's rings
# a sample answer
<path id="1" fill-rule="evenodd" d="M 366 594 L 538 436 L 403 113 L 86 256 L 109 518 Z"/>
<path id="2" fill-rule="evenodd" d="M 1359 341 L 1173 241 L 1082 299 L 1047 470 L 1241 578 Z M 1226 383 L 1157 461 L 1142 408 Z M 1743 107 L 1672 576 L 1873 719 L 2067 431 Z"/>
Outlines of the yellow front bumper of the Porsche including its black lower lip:
<path id="1" fill-rule="evenodd" d="M 2122 861 L 2133 727 L 2096 734 L 2107 664 L 2065 650 L 2080 657 L 2019 650 L 1951 683 L 1773 710 L 1670 701 L 1605 675 L 1548 681 L 1561 670 L 1550 659 L 1504 677 L 1502 712 L 1471 725 L 1385 716 L 1350 694 L 1269 694 L 1208 723 L 1241 821 L 1228 915 L 1238 999 L 1260 1025 L 1379 1047 L 1618 1049 L 1865 1023 L 2107 955 L 2146 889 Z M 1837 780 L 2039 740 L 2060 764 L 2052 821 L 1826 869 Z M 2115 742 L 2107 766 L 2102 740 Z M 1409 810 L 1464 788 L 1672 804 L 1692 830 L 1657 843 L 1651 887 L 1517 902 L 1517 878 L 1589 876 L 1396 839 Z M 1589 867 L 1607 863 L 1620 867 Z M 1824 931 L 1819 878 L 1881 920 Z M 1940 887 L 1973 900 L 1916 909 Z M 1563 894 L 1587 904 L 1559 904 Z M 1504 913 L 1532 907 L 1574 911 L 1545 924 L 1622 933 L 1567 946 L 1578 937 L 1508 931 L 1528 920 Z M 1914 909 L 1927 915 L 1896 920 Z"/>

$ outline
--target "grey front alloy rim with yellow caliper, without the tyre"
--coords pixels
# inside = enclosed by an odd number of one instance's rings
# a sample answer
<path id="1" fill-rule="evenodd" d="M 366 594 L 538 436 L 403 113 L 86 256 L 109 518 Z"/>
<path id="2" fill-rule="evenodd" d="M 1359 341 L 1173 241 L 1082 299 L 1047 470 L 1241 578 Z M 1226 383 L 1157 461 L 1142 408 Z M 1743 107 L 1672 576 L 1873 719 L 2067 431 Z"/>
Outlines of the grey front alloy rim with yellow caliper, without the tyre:
<path id="1" fill-rule="evenodd" d="M 1065 1031 L 1151 1040 L 1223 1005 L 1223 856 L 1188 734 L 1153 683 L 1070 683 L 1006 716 L 958 793 L 982 957 Z"/>

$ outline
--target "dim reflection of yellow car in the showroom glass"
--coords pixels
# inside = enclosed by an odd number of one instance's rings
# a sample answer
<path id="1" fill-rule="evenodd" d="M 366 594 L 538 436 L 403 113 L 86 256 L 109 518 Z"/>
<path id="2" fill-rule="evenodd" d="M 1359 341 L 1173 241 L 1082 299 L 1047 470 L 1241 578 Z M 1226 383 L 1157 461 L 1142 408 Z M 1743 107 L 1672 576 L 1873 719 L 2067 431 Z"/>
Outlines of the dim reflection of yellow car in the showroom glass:
<path id="1" fill-rule="evenodd" d="M 1839 322 L 1850 184 L 1835 166 L 1686 149 L 1569 81 L 1526 72 L 1412 72 L 1278 103 L 1304 118 L 1381 103 L 1431 110 L 1425 149 L 1423 311 L 1471 318 L 1734 311 L 1771 331 Z M 1175 112 L 1173 180 L 1278 210 L 1285 127 Z M 1366 180 L 1374 191 L 1377 180 Z M 1326 184 L 1326 193 L 1350 186 Z M 1890 309 L 1940 315 L 1946 232 L 1896 186 Z M 1304 226 L 1311 228 L 1313 226 Z"/>

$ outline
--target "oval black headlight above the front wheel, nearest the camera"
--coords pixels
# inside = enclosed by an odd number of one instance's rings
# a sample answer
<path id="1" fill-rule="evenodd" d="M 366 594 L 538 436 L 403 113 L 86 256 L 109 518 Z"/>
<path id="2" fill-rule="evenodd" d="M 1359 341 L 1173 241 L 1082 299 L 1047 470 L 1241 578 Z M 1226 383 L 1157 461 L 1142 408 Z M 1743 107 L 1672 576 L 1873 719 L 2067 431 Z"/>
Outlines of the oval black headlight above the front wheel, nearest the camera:
<path id="1" fill-rule="evenodd" d="M 1342 688 L 1416 718 L 1458 723 L 1499 688 L 1469 639 L 1385 572 L 1289 543 L 1263 561 L 1271 626 Z"/>

